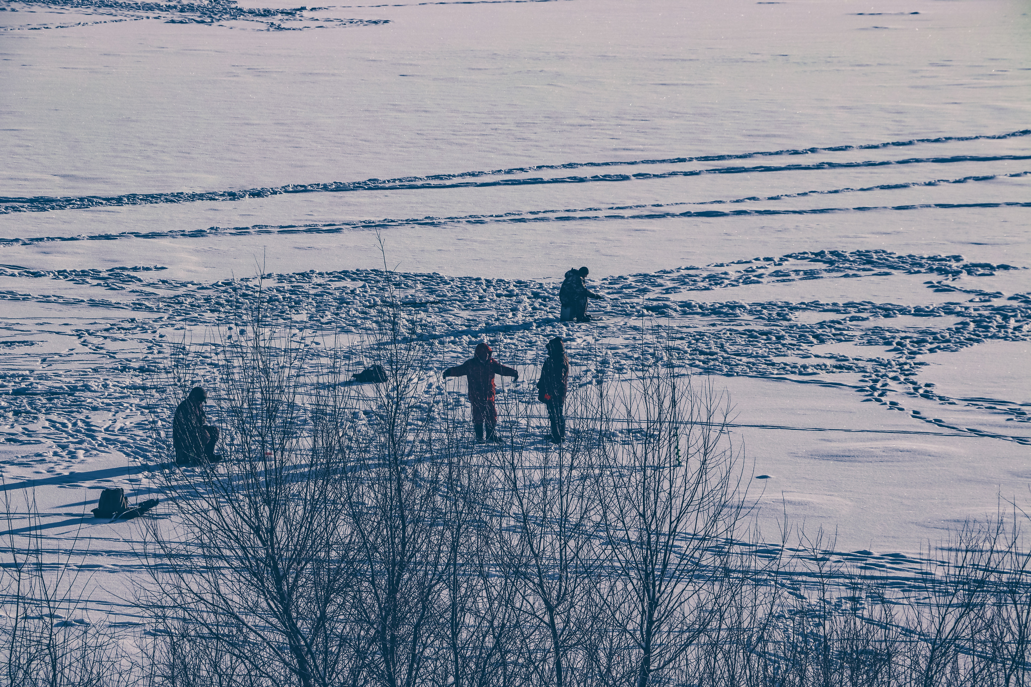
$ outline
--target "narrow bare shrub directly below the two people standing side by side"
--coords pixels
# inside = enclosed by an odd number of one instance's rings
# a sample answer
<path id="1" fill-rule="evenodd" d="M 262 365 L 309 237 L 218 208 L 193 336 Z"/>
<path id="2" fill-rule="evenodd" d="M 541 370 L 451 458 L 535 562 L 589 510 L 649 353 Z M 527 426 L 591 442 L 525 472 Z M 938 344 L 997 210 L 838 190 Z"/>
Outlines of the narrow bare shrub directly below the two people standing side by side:
<path id="1" fill-rule="evenodd" d="M 575 407 L 576 396 L 567 405 Z M 490 456 L 496 486 L 489 496 L 501 525 L 495 565 L 510 585 L 517 649 L 531 684 L 585 684 L 600 629 L 598 453 L 578 424 L 573 418 L 566 442 L 543 454 L 524 435 Z"/>

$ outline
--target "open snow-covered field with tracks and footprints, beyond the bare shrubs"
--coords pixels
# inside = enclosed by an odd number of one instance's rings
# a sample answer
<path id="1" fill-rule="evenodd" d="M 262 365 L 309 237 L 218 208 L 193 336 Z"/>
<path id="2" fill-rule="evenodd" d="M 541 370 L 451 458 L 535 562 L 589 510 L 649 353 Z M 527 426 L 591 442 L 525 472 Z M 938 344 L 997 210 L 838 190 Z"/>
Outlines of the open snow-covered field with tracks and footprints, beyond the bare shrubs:
<path id="1" fill-rule="evenodd" d="M 288 5 L 0 0 L 3 535 L 86 543 L 126 622 L 140 530 L 89 509 L 155 491 L 169 343 L 258 275 L 325 346 L 386 262 L 427 375 L 486 340 L 517 400 L 553 336 L 577 385 L 668 339 L 764 531 L 865 570 L 1031 506 L 1025 3 Z M 560 322 L 580 265 L 598 321 Z"/>

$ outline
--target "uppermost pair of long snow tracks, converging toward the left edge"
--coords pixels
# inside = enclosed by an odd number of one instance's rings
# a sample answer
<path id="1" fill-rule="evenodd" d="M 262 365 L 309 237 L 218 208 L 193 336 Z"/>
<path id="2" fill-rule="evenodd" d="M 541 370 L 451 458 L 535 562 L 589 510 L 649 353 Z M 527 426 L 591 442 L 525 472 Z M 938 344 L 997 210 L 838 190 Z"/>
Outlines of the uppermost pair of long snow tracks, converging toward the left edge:
<path id="1" fill-rule="evenodd" d="M 850 169 L 861 167 L 884 167 L 891 165 L 916 165 L 916 164 L 950 164 L 963 162 L 1000 162 L 1000 161 L 1021 161 L 1031 160 L 1031 156 L 951 156 L 940 158 L 908 158 L 905 160 L 871 160 L 862 162 L 821 162 L 809 165 L 758 165 L 752 167 L 718 167 L 713 169 L 696 170 L 671 170 L 667 172 L 648 173 L 638 172 L 636 174 L 595 174 L 592 176 L 565 176 L 565 177 L 530 177 L 516 179 L 498 179 L 491 181 L 464 181 L 459 179 L 472 179 L 483 176 L 502 174 L 524 174 L 535 171 L 575 169 L 584 167 L 614 167 L 614 166 L 635 166 L 635 165 L 659 165 L 659 164 L 680 164 L 688 162 L 712 162 L 723 160 L 740 160 L 756 157 L 788 156 L 788 154 L 808 154 L 828 150 L 849 150 L 883 148 L 895 145 L 910 145 L 920 142 L 945 142 L 975 140 L 982 138 L 1008 138 L 1013 136 L 1024 136 L 1031 134 L 1031 130 L 1013 132 L 998 136 L 973 136 L 973 137 L 945 137 L 941 139 L 918 139 L 907 142 L 877 143 L 869 146 L 837 146 L 831 148 L 808 148 L 805 150 L 776 150 L 765 152 L 747 152 L 741 154 L 728 156 L 706 156 L 699 158 L 675 158 L 669 160 L 640 160 L 630 162 L 604 162 L 604 163 L 568 163 L 565 165 L 540 165 L 535 167 L 522 167 L 503 170 L 461 172 L 457 174 L 435 174 L 430 176 L 399 177 L 395 179 L 370 178 L 364 181 L 331 181 L 324 183 L 309 184 L 287 184 L 284 186 L 247 188 L 241 191 L 212 191 L 212 192 L 172 192 L 163 194 L 125 194 L 121 196 L 80 196 L 80 197 L 0 197 L 0 214 L 9 212 L 46 212 L 49 210 L 81 209 L 90 207 L 108 207 L 121 205 L 149 205 L 159 203 L 195 203 L 200 201 L 239 201 L 247 198 L 268 198 L 281 194 L 303 194 L 303 193 L 344 193 L 352 191 L 408 191 L 423 188 L 464 188 L 464 187 L 488 187 L 500 185 L 535 185 L 541 183 L 586 183 L 594 181 L 632 181 L 645 179 L 665 179 L 673 177 L 701 176 L 703 174 L 751 174 L 760 172 L 796 172 L 826 169 Z M 438 183 L 442 182 L 442 183 Z"/>

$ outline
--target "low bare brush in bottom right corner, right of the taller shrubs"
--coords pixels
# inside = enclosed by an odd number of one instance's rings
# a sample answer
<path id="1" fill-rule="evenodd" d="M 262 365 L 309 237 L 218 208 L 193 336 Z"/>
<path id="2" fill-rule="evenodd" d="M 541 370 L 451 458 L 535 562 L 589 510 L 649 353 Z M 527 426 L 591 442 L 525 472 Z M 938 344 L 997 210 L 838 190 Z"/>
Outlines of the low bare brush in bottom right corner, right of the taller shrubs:
<path id="1" fill-rule="evenodd" d="M 1026 543 L 1011 513 L 967 522 L 927 558 L 922 581 L 898 589 L 827 564 L 818 536 L 807 555 L 759 576 L 753 603 L 734 599 L 740 628 L 703 645 L 696 684 L 895 687 L 1028 684 Z M 804 551 L 806 549 L 796 549 Z"/>

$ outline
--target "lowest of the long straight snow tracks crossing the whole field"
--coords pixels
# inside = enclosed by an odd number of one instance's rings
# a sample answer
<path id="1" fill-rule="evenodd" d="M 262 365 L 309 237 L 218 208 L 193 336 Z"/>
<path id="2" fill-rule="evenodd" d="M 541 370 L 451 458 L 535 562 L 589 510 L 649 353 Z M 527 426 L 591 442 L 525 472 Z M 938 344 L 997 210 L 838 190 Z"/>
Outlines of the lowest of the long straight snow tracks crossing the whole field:
<path id="1" fill-rule="evenodd" d="M 21 238 L 0 238 L 0 246 L 31 246 L 39 243 L 51 243 L 55 241 L 117 241 L 119 239 L 199 239 L 210 236 L 252 236 L 254 234 L 339 234 L 345 230 L 363 229 L 387 229 L 391 227 L 404 227 L 408 225 L 422 225 L 429 227 L 440 227 L 447 224 L 472 224 L 485 225 L 494 224 L 524 224 L 534 221 L 606 221 L 610 219 L 671 219 L 675 217 L 742 217 L 742 216 L 773 216 L 773 215 L 803 215 L 803 214 L 832 214 L 838 212 L 869 212 L 873 210 L 926 210 L 926 209 L 963 209 L 963 208 L 998 208 L 998 207 L 1031 207 L 1031 202 L 1004 202 L 1004 203 L 924 203 L 918 205 L 895 205 L 895 206 L 860 206 L 860 207 L 829 207 L 810 208 L 803 210 L 688 210 L 686 212 L 647 212 L 643 214 L 605 214 L 605 215 L 543 215 L 543 216 L 516 216 L 516 217 L 489 217 L 483 215 L 472 215 L 466 217 L 424 217 L 422 219 L 365 219 L 358 221 L 334 221 L 318 225 L 254 225 L 252 227 L 232 227 L 224 229 L 222 227 L 210 227 L 208 229 L 167 231 L 167 232 L 121 232 L 119 234 L 92 234 L 89 236 L 40 236 L 31 239 Z M 545 212 L 545 211 L 542 211 Z M 559 212 L 550 210 L 546 212 Z M 579 212 L 579 210 L 573 210 Z"/>

